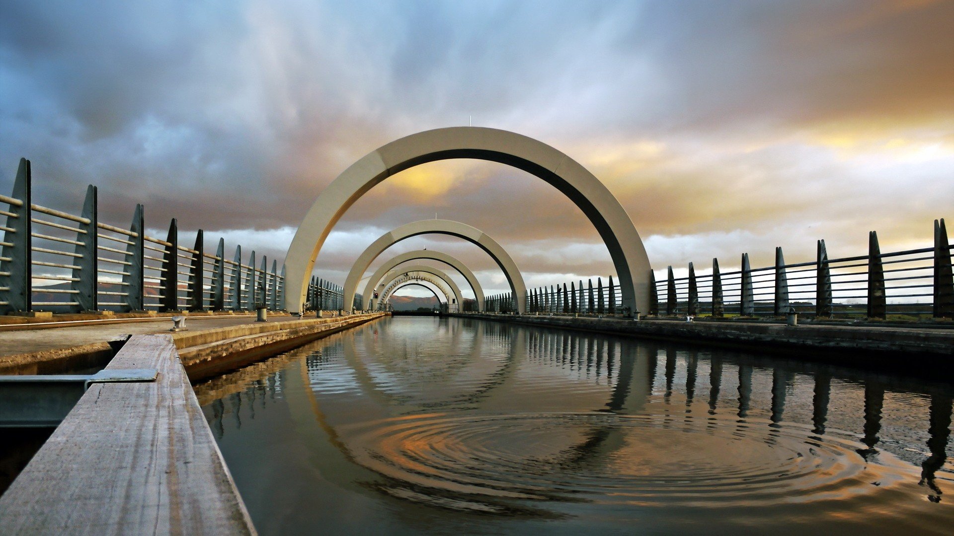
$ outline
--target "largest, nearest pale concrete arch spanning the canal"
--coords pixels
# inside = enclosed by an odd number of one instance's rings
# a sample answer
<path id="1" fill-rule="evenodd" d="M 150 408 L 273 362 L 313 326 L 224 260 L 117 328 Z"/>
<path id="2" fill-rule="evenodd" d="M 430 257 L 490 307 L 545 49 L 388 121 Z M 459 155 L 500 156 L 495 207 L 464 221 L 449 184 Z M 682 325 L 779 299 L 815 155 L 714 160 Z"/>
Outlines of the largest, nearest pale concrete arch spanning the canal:
<path id="1" fill-rule="evenodd" d="M 568 196 L 590 218 L 610 250 L 623 310 L 633 313 L 637 306 L 647 310 L 652 267 L 633 220 L 610 190 L 575 160 L 545 143 L 481 127 L 451 127 L 405 136 L 363 156 L 338 175 L 305 214 L 285 256 L 289 310 L 297 313 L 301 309 L 315 258 L 332 227 L 355 201 L 390 175 L 450 158 L 507 164 L 546 180 Z M 513 296 L 518 310 L 525 312 L 526 289 L 513 289 Z"/>

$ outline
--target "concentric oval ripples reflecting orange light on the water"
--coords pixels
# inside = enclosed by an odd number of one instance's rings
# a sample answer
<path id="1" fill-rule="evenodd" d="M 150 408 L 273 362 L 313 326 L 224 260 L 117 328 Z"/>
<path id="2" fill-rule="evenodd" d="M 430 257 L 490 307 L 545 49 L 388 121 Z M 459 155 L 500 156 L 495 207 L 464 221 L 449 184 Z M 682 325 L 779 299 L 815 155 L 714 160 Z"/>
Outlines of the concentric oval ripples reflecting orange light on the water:
<path id="1" fill-rule="evenodd" d="M 466 503 L 461 496 L 467 495 L 625 505 L 791 504 L 874 493 L 910 473 L 884 453 L 879 464 L 868 464 L 856 452 L 861 443 L 815 437 L 807 427 L 715 417 L 427 414 L 348 426 L 344 437 L 357 462 L 404 483 L 392 490 L 445 491 L 454 505 Z M 468 507 L 486 509 L 487 503 Z"/>

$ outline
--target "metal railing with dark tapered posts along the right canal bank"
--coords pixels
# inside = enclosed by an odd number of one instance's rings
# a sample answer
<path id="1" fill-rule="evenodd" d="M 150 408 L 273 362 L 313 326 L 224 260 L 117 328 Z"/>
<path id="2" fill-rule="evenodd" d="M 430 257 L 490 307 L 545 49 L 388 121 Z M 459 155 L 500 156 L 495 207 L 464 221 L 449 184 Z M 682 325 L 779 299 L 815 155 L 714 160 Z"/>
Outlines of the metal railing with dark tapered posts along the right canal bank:
<path id="1" fill-rule="evenodd" d="M 651 296 L 646 312 L 655 317 L 780 318 L 790 312 L 816 319 L 930 320 L 954 318 L 952 248 L 944 219 L 934 221 L 934 245 L 881 253 L 878 235 L 868 235 L 868 254 L 828 258 L 824 240 L 814 261 L 786 264 L 776 248 L 772 266 L 752 268 L 748 254 L 738 269 L 675 278 L 673 267 L 657 280 L 651 272 Z M 544 314 L 623 314 L 620 288 L 612 277 L 530 289 L 527 309 Z M 487 311 L 514 310 L 509 294 L 487 299 Z"/>

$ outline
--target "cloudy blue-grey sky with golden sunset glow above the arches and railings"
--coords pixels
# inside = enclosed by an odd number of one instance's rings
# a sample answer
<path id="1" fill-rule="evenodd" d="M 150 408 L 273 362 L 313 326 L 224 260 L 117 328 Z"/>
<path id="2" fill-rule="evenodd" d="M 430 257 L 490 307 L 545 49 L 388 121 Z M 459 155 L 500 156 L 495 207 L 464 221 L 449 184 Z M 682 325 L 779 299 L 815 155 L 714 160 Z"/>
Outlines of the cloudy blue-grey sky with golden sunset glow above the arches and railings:
<path id="1" fill-rule="evenodd" d="M 954 1 L 18 2 L 0 4 L 0 193 L 153 236 L 281 260 L 322 188 L 408 134 L 468 124 L 570 155 L 627 210 L 653 268 L 705 273 L 931 244 L 954 207 Z M 590 221 L 539 178 L 448 160 L 349 209 L 316 274 L 375 238 L 456 219 L 528 286 L 613 274 Z M 505 292 L 467 242 L 441 249 Z M 247 253 L 246 253 L 247 255 Z M 231 254 L 229 255 L 231 257 Z M 463 278 L 459 284 L 468 294 Z M 421 296 L 429 295 L 423 289 Z M 413 294 L 413 293 L 412 293 Z"/>

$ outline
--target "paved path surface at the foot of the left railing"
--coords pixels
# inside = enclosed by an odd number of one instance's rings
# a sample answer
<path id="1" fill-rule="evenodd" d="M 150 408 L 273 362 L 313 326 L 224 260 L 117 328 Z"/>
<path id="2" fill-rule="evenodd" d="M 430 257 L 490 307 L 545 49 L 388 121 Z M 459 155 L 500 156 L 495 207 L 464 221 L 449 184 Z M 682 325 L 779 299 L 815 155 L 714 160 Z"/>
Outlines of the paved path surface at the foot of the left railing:
<path id="1" fill-rule="evenodd" d="M 276 317 L 274 320 L 291 320 Z M 255 322 L 255 316 L 241 317 L 189 317 L 186 327 L 193 330 L 212 329 Z M 0 356 L 12 356 L 29 352 L 42 352 L 58 348 L 71 348 L 92 342 L 118 339 L 120 335 L 146 335 L 169 333 L 172 320 L 132 320 L 103 324 L 65 325 L 46 329 L 0 330 Z"/>

